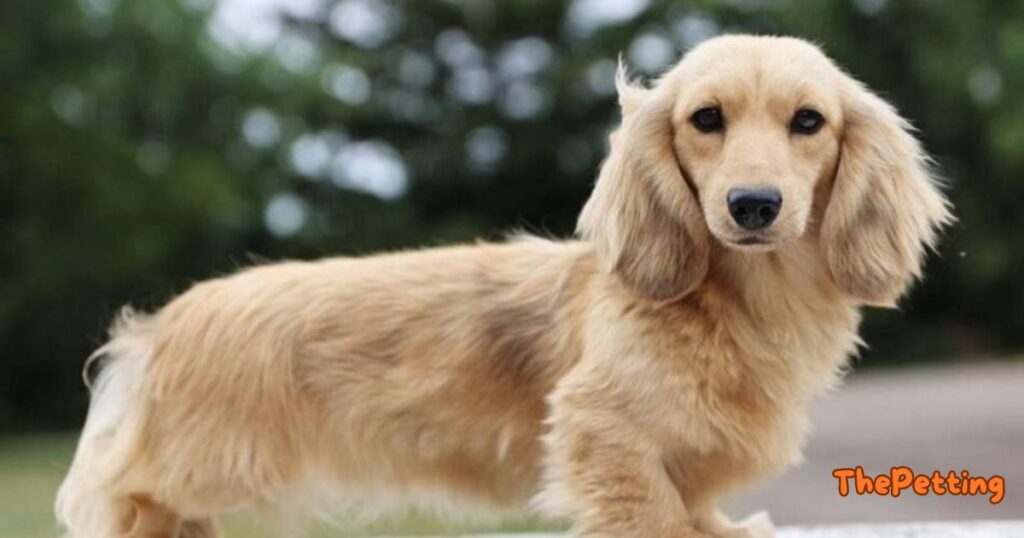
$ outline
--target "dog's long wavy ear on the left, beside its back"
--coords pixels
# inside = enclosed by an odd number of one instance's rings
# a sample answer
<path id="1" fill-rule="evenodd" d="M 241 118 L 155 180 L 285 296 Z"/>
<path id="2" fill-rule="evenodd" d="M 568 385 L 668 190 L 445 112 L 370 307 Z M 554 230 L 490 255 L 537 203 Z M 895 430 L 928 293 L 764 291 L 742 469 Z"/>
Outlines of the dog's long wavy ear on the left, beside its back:
<path id="1" fill-rule="evenodd" d="M 631 85 L 622 66 L 616 86 L 623 123 L 577 231 L 635 293 L 658 301 L 681 297 L 707 275 L 710 247 L 673 150 L 674 92 Z"/>

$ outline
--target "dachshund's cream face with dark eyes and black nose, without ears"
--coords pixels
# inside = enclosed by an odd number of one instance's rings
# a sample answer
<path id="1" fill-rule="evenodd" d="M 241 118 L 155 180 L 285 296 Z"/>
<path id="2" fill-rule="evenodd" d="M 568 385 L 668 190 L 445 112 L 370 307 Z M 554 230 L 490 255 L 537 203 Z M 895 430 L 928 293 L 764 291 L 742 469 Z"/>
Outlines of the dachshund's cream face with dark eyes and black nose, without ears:
<path id="1" fill-rule="evenodd" d="M 772 250 L 807 230 L 840 153 L 837 75 L 803 42 L 761 39 L 710 42 L 673 73 L 676 159 L 726 247 Z"/>

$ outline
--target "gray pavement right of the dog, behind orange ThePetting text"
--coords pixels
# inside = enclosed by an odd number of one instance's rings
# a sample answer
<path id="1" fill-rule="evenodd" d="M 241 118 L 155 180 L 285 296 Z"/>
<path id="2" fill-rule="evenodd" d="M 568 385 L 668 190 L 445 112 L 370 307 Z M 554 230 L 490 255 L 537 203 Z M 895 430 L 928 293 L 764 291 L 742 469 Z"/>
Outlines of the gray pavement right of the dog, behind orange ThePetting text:
<path id="1" fill-rule="evenodd" d="M 764 509 L 777 526 L 1024 520 L 1024 361 L 855 373 L 816 402 L 811 416 L 806 461 L 734 501 L 730 514 Z M 898 465 L 927 474 L 999 474 L 1005 499 L 841 497 L 833 469 L 857 465 L 870 475 Z"/>

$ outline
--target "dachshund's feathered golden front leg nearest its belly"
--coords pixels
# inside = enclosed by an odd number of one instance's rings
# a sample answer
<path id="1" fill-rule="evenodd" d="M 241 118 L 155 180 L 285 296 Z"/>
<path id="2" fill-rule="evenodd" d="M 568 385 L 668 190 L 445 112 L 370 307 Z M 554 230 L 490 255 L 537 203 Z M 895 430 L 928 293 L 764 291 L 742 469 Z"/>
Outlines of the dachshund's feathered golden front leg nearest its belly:
<path id="1" fill-rule="evenodd" d="M 703 538 L 643 427 L 609 399 L 560 391 L 546 438 L 542 509 L 579 538 Z"/>

